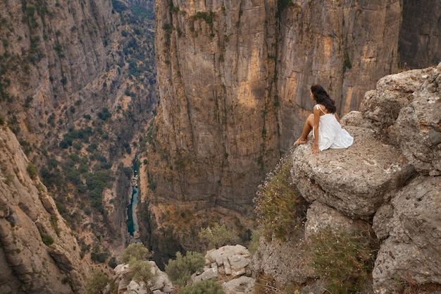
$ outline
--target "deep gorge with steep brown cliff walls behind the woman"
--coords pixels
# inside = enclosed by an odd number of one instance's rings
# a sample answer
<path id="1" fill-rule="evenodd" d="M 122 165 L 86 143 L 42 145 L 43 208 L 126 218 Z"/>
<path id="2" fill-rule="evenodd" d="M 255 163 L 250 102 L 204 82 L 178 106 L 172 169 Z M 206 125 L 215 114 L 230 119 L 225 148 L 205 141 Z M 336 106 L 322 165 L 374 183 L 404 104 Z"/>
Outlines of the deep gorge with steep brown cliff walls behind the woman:
<path id="1" fill-rule="evenodd" d="M 309 85 L 359 110 L 385 75 L 437 65 L 440 15 L 435 0 L 1 1 L 0 292 L 82 293 L 111 272 L 135 154 L 157 264 L 215 222 L 246 243 Z"/>

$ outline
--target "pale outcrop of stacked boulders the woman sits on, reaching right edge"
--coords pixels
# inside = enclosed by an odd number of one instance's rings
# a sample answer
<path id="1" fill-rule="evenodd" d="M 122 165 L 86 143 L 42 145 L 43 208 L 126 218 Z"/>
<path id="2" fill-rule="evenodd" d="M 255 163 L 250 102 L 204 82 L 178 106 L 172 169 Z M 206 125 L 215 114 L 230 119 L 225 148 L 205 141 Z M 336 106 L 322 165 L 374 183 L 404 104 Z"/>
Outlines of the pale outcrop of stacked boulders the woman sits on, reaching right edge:
<path id="1" fill-rule="evenodd" d="M 441 288 L 440 79 L 441 64 L 388 75 L 366 93 L 361 111 L 342 119 L 354 145 L 313 156 L 311 138 L 294 149 L 292 183 L 311 203 L 304 236 L 282 245 L 261 240 L 254 271 L 281 284 L 305 283 L 314 277 L 308 251 L 292 259 L 290 251 L 275 250 L 302 248 L 318 228 L 358 228 L 375 232 L 380 241 L 374 293 L 394 293 L 403 285 Z M 278 259 L 285 262 L 275 271 Z"/>

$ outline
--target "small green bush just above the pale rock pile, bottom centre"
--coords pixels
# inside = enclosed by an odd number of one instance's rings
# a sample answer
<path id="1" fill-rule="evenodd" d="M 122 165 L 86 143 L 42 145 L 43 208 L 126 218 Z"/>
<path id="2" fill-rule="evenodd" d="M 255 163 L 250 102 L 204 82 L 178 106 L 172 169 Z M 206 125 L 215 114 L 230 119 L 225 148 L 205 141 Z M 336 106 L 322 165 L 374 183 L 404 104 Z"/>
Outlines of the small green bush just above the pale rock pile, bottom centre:
<path id="1" fill-rule="evenodd" d="M 209 248 L 216 247 L 216 249 L 218 249 L 221 246 L 235 243 L 237 235 L 228 230 L 225 225 L 221 226 L 219 223 L 214 223 L 211 227 L 201 228 L 199 238 L 201 238 L 201 242 L 208 245 Z"/>

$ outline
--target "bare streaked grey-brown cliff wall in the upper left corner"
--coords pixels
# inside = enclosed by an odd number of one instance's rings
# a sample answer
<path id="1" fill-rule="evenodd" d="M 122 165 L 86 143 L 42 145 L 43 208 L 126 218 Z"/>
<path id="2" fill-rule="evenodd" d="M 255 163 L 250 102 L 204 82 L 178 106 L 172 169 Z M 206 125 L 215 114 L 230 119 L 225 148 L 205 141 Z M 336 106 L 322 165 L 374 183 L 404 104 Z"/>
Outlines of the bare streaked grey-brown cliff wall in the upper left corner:
<path id="1" fill-rule="evenodd" d="M 109 1 L 2 1 L 0 5 L 1 100 L 9 102 L 1 114 L 10 111 L 23 132 L 38 133 L 42 117 L 47 119 L 57 107 L 80 99 L 72 97 L 73 92 L 104 71 L 104 44 L 118 19 L 111 14 Z M 84 102 L 85 107 L 94 106 L 91 99 Z M 71 120 L 80 116 L 77 113 Z"/>

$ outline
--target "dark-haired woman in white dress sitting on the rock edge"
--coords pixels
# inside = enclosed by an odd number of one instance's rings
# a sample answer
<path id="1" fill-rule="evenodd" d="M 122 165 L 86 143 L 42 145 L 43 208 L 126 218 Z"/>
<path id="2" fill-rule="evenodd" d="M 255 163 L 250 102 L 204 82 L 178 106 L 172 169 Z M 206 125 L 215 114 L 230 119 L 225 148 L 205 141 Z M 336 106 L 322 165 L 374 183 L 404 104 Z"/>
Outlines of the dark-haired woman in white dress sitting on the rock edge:
<path id="1" fill-rule="evenodd" d="M 313 114 L 306 118 L 302 135 L 294 142 L 301 145 L 308 142 L 308 135 L 313 130 L 314 144 L 312 154 L 317 154 L 328 148 L 347 148 L 352 145 L 354 138 L 340 125 L 340 118 L 335 112 L 334 100 L 321 85 L 312 85 L 309 92 L 311 99 L 316 102 Z"/>

